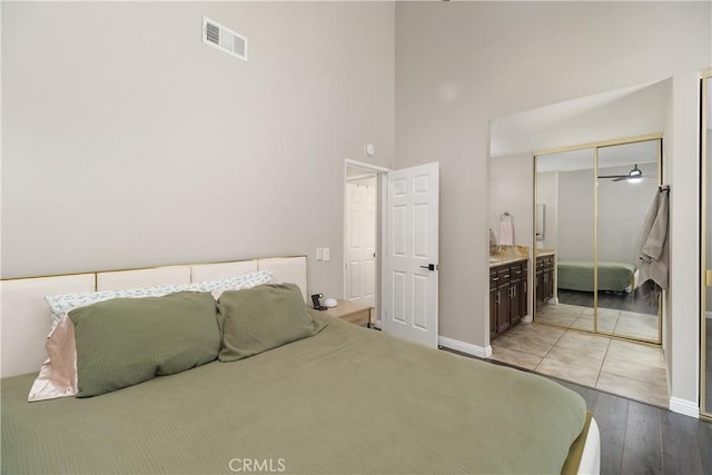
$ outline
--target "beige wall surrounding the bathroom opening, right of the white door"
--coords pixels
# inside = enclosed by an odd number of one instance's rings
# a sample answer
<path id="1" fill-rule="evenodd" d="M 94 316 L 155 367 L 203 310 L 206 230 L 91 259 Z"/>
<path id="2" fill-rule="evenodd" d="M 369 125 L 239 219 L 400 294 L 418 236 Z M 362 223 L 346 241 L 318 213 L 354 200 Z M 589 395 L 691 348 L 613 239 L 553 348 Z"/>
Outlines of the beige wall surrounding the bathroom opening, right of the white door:
<path id="1" fill-rule="evenodd" d="M 399 2 L 396 165 L 441 162 L 441 334 L 485 346 L 488 127 L 516 111 L 674 77 L 675 246 L 694 269 L 694 73 L 712 57 L 708 2 Z M 688 120 L 689 119 L 689 120 Z M 692 121 L 692 123 L 691 123 Z M 686 127 L 682 132 L 680 127 Z M 689 154 L 689 157 L 683 157 Z M 674 191 L 678 192 L 678 191 Z M 685 218 L 686 219 L 686 218 Z M 686 228 L 683 229 L 683 227 Z M 688 253 L 685 255 L 685 253 Z M 692 276 L 692 273 L 689 273 Z M 673 396 L 695 400 L 695 286 L 675 283 Z M 684 287 L 684 288 L 683 288 Z M 678 305 L 678 307 L 676 307 Z M 675 348 L 676 349 L 676 348 Z"/>

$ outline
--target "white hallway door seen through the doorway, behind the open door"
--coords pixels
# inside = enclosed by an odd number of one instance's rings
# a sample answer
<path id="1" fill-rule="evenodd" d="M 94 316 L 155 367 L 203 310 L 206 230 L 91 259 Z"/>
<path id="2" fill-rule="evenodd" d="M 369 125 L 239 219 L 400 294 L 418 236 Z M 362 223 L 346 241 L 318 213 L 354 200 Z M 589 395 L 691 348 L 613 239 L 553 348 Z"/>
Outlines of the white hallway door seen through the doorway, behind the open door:
<path id="1" fill-rule="evenodd" d="M 346 299 L 376 305 L 376 176 L 346 184 Z"/>

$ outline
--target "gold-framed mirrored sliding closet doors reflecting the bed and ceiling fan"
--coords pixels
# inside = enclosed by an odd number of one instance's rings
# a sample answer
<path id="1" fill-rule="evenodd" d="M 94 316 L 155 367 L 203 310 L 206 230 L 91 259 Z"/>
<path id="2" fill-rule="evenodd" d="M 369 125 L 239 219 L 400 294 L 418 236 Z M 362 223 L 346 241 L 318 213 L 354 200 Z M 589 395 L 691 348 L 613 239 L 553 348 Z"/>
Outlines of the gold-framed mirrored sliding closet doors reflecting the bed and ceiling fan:
<path id="1" fill-rule="evenodd" d="M 536 157 L 537 209 L 546 210 L 536 247 L 555 256 L 554 291 L 537 298 L 536 321 L 660 343 L 659 298 L 642 285 L 639 258 L 660 147 L 652 139 Z"/>

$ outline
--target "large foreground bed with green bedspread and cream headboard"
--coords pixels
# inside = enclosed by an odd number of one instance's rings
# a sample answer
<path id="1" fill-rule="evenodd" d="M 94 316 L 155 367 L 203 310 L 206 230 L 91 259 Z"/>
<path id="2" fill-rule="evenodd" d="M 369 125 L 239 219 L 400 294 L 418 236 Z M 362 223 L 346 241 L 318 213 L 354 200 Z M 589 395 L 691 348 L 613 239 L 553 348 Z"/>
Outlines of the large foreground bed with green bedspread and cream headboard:
<path id="1" fill-rule="evenodd" d="M 271 281 L 249 291 L 290 289 L 304 305 L 304 257 L 205 266 L 2 283 L 3 473 L 597 473 L 597 427 L 577 394 L 306 306 L 315 333 L 291 343 L 92 397 L 28 403 L 47 356 L 37 352 L 49 326 L 44 296 L 270 267 Z M 239 293 L 219 296 L 219 311 Z M 197 293 L 166 298 L 186 294 Z"/>

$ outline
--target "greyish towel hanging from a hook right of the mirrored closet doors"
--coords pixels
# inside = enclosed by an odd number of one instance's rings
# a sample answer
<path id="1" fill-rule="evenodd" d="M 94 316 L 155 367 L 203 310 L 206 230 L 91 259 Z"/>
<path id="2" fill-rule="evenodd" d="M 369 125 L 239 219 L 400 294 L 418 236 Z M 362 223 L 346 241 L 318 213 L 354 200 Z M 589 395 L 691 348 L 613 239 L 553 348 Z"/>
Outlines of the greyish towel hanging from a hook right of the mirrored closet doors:
<path id="1" fill-rule="evenodd" d="M 653 202 L 647 209 L 643 228 L 639 238 L 640 243 L 640 283 L 654 281 L 660 288 L 668 288 L 669 250 L 668 250 L 668 221 L 669 221 L 669 192 L 656 191 Z"/>

